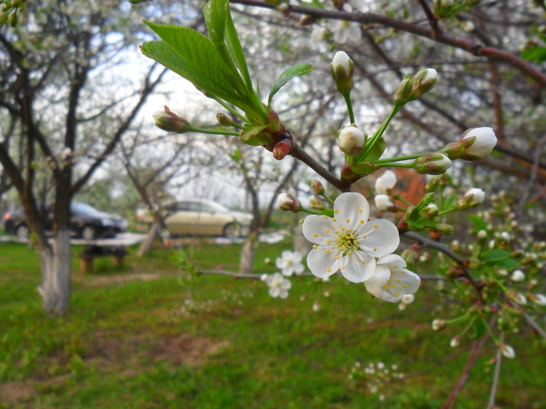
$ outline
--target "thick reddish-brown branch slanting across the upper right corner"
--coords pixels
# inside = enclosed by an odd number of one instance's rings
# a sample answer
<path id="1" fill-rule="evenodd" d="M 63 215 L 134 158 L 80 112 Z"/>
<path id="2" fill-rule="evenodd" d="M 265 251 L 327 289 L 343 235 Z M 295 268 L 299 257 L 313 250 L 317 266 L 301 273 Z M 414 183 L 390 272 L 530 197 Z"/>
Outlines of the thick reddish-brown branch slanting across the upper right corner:
<path id="1" fill-rule="evenodd" d="M 275 5 L 268 4 L 260 0 L 232 0 L 232 2 L 244 5 L 251 5 L 254 7 L 275 9 Z M 525 61 L 518 56 L 515 56 L 512 53 L 496 49 L 495 47 L 482 46 L 465 38 L 452 37 L 447 34 L 440 34 L 435 38 L 434 33 L 429 29 L 374 13 L 347 13 L 345 11 L 323 10 L 301 5 L 289 5 L 289 11 L 290 13 L 305 14 L 311 17 L 315 17 L 316 19 L 353 21 L 366 25 L 376 23 L 385 27 L 391 27 L 408 33 L 416 34 L 419 37 L 430 38 L 437 41 L 438 43 L 447 44 L 461 50 L 465 50 L 477 57 L 485 57 L 492 60 L 506 62 L 513 67 L 518 68 L 521 72 L 530 76 L 542 86 L 546 86 L 546 74 L 542 73 L 533 64 Z"/>

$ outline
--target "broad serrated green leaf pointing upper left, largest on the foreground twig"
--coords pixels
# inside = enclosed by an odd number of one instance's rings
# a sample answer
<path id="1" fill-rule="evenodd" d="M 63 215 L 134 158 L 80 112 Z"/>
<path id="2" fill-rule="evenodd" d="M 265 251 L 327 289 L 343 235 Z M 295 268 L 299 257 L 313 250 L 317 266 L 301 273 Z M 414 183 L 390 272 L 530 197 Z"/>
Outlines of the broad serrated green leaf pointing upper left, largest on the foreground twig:
<path id="1" fill-rule="evenodd" d="M 188 27 L 160 26 L 146 22 L 163 41 L 141 47 L 144 55 L 173 70 L 201 91 L 222 98 L 246 111 L 246 96 L 234 88 L 240 78 L 226 68 L 211 40 Z"/>

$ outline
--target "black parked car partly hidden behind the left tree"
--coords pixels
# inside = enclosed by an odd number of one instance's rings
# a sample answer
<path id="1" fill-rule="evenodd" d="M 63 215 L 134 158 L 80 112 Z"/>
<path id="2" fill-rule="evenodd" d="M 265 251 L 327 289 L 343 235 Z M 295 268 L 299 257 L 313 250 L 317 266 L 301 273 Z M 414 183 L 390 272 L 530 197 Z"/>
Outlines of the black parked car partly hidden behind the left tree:
<path id="1" fill-rule="evenodd" d="M 87 203 L 74 202 L 70 204 L 70 230 L 72 236 L 86 240 L 113 237 L 117 233 L 127 231 L 127 220 L 117 214 L 100 212 Z M 46 206 L 43 210 L 46 232 L 53 230 L 53 209 Z M 18 238 L 27 238 L 30 232 L 25 211 L 17 208 L 4 215 L 4 231 L 15 234 Z"/>

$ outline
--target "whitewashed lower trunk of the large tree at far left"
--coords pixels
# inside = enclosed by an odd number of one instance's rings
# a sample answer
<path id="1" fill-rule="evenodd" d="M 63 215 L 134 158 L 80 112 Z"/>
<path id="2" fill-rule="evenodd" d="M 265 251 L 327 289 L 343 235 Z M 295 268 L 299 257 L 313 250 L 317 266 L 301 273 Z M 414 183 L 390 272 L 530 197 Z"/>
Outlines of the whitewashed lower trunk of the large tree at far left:
<path id="1" fill-rule="evenodd" d="M 43 280 L 38 292 L 48 314 L 63 315 L 70 303 L 72 247 L 70 230 L 57 231 L 52 248 L 39 249 Z"/>

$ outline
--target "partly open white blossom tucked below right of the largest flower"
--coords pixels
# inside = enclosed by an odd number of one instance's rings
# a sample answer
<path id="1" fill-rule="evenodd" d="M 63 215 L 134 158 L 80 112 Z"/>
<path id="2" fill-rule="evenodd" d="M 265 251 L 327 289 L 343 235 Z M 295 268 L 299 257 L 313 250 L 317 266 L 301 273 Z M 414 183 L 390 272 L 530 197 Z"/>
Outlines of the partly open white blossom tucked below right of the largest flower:
<path id="1" fill-rule="evenodd" d="M 413 294 L 419 288 L 421 279 L 404 267 L 406 262 L 397 254 L 379 258 L 375 274 L 364 282 L 366 290 L 389 303 L 396 303 L 406 294 Z"/>

